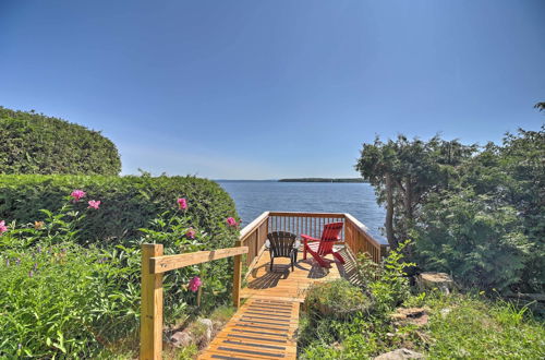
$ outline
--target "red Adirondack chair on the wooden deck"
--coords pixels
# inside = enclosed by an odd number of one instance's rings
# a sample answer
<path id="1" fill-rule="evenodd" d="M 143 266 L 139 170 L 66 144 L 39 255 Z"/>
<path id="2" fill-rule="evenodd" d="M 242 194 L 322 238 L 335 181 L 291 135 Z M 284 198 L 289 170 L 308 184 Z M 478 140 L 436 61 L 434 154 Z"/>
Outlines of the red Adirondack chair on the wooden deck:
<path id="1" fill-rule="evenodd" d="M 326 224 L 322 232 L 322 239 L 302 233 L 301 238 L 304 241 L 303 259 L 306 259 L 306 252 L 308 252 L 322 267 L 331 267 L 329 261 L 324 256 L 332 254 L 341 264 L 344 264 L 344 259 L 334 249 L 335 242 L 340 240 L 342 225 L 342 223 Z"/>

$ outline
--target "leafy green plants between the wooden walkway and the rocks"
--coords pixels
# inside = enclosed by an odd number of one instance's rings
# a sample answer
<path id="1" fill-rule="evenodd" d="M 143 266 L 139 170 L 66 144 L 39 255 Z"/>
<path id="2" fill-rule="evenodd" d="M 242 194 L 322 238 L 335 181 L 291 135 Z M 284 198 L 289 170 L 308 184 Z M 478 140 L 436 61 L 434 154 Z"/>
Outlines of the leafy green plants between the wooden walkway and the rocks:
<path id="1" fill-rule="evenodd" d="M 401 337 L 386 334 L 393 332 L 388 314 L 410 296 L 404 268 L 413 264 L 403 262 L 401 253 L 408 244 L 378 266 L 360 255 L 358 287 L 340 279 L 311 288 L 300 324 L 301 358 L 361 359 L 401 344 Z"/>

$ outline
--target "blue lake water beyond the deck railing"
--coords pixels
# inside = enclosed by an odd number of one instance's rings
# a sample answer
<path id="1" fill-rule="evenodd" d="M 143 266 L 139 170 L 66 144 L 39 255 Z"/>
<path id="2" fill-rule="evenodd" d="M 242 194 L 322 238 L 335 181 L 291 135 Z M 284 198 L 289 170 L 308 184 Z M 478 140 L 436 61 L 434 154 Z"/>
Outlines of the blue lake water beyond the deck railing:
<path id="1" fill-rule="evenodd" d="M 243 226 L 263 212 L 350 213 L 386 243 L 379 230 L 385 209 L 368 183 L 217 181 L 234 200 Z"/>

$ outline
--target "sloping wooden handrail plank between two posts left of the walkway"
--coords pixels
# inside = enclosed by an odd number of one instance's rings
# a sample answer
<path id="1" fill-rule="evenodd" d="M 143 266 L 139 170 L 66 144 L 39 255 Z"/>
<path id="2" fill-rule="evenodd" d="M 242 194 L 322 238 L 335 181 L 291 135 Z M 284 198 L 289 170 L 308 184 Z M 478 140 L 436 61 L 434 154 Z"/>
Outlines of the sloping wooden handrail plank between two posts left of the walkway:
<path id="1" fill-rule="evenodd" d="M 160 274 L 180 267 L 206 263 L 213 260 L 245 254 L 247 251 L 247 247 L 235 247 L 211 251 L 197 251 L 187 254 L 154 256 L 149 259 L 149 268 L 152 274 Z"/>

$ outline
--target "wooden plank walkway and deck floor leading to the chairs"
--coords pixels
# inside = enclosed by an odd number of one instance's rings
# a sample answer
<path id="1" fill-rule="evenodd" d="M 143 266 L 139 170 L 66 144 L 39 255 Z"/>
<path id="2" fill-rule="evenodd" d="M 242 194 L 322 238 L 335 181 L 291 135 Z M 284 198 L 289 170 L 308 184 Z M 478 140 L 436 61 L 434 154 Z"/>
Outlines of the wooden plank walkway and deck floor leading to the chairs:
<path id="1" fill-rule="evenodd" d="M 244 304 L 198 359 L 295 359 L 300 304 L 313 283 L 350 276 L 351 257 L 342 254 L 347 264 L 327 269 L 300 251 L 291 272 L 289 259 L 276 259 L 270 271 L 264 252 L 242 289 Z"/>

